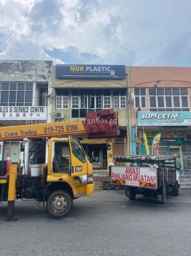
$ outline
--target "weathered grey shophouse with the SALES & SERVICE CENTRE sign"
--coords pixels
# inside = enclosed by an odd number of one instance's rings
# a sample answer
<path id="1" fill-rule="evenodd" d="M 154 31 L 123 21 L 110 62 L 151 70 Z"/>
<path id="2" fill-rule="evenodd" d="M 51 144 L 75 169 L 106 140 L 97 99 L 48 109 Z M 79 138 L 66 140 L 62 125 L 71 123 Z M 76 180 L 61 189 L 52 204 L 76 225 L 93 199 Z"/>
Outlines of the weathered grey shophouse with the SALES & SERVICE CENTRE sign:
<path id="1" fill-rule="evenodd" d="M 0 61 L 0 125 L 24 125 L 47 122 L 48 88 L 52 61 Z M 8 135 L 7 135 L 8 136 Z M 20 141 L 0 143 L 0 159 L 6 160 L 10 152 L 12 162 L 19 162 Z M 38 151 L 30 149 L 38 145 Z M 26 140 L 25 158 L 31 163 L 42 162 L 41 140 Z M 38 157 L 36 157 L 38 155 Z M 36 159 L 34 162 L 33 159 Z M 26 161 L 28 162 L 28 161 Z"/>

